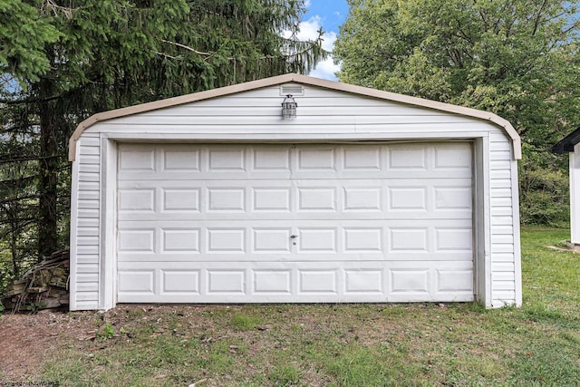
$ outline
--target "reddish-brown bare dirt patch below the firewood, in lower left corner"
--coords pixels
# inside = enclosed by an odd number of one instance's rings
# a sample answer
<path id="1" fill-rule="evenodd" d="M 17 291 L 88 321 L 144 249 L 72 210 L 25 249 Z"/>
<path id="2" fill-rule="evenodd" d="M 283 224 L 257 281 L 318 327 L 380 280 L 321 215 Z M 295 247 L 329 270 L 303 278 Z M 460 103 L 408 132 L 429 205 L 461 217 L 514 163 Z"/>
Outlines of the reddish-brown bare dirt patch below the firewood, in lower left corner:
<path id="1" fill-rule="evenodd" d="M 94 313 L 46 309 L 37 314 L 0 315 L 0 385 L 25 381 L 27 376 L 42 372 L 49 353 L 94 332 Z"/>

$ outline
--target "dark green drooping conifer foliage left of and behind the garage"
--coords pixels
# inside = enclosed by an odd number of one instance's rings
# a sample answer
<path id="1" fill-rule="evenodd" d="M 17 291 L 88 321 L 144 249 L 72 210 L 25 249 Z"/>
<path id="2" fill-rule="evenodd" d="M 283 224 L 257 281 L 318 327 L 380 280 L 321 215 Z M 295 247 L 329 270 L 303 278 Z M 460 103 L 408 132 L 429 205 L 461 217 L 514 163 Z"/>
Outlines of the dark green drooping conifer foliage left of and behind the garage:
<path id="1" fill-rule="evenodd" d="M 327 55 L 321 40 L 281 35 L 303 14 L 302 0 L 1 2 L 0 270 L 17 276 L 68 245 L 67 146 L 80 121 L 308 72 Z"/>

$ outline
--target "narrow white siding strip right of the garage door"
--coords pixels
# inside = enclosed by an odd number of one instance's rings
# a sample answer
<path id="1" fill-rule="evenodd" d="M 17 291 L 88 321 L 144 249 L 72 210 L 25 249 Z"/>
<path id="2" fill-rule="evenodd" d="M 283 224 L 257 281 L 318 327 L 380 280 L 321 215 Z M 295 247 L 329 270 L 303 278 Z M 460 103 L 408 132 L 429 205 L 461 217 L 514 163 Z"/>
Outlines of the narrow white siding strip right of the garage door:
<path id="1" fill-rule="evenodd" d="M 501 131 L 489 134 L 491 204 L 491 294 L 494 307 L 516 303 L 516 244 L 512 199 L 511 142 Z"/>

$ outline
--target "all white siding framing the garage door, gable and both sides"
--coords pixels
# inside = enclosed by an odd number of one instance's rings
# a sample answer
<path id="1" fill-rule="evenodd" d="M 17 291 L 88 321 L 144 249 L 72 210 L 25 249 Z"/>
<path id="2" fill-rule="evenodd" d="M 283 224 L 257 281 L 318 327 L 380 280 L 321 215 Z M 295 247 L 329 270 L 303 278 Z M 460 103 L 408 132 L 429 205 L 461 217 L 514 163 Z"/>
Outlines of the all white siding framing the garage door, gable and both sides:
<path id="1" fill-rule="evenodd" d="M 84 131 L 73 167 L 72 308 L 103 307 L 101 137 L 115 140 L 335 141 L 489 139 L 491 305 L 518 302 L 517 169 L 498 126 L 459 114 L 304 85 L 297 117 L 283 120 L 280 87 L 230 94 L 98 122 Z M 111 171 L 115 173 L 115 171 Z M 73 180 L 74 181 L 74 180 Z M 515 188 L 514 188 L 515 187 Z M 75 188 L 73 183 L 73 189 Z M 111 208 L 109 208 L 111 209 Z M 486 231 L 488 233 L 488 231 Z M 112 262 L 112 261 L 111 261 Z M 100 301 L 101 300 L 101 301 Z"/>

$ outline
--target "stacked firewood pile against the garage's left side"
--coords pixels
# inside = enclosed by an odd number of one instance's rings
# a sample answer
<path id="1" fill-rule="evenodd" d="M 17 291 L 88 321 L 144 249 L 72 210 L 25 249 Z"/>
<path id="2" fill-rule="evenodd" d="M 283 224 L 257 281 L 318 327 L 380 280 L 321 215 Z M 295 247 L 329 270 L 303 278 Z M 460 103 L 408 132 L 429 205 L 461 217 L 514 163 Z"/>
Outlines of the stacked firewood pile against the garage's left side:
<path id="1" fill-rule="evenodd" d="M 57 251 L 8 285 L 1 301 L 13 312 L 35 312 L 68 305 L 68 281 L 69 252 Z"/>

